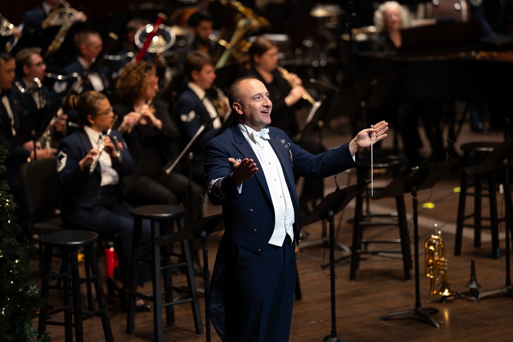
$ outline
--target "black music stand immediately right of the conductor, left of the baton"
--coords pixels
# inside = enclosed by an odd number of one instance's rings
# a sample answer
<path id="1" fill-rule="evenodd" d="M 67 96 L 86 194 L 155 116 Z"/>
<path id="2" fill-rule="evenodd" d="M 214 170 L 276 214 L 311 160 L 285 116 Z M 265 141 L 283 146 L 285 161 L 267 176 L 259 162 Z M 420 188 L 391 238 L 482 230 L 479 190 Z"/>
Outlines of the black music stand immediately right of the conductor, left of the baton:
<path id="1" fill-rule="evenodd" d="M 344 209 L 347 204 L 365 187 L 362 185 L 351 185 L 347 188 L 337 189 L 326 195 L 317 207 L 304 219 L 301 219 L 302 226 L 307 226 L 327 219 L 329 222 L 329 272 L 330 272 L 330 293 L 331 293 L 331 333 L 324 337 L 328 342 L 346 342 L 337 337 L 336 315 L 335 315 L 335 260 L 334 260 L 334 225 L 333 216 Z"/>

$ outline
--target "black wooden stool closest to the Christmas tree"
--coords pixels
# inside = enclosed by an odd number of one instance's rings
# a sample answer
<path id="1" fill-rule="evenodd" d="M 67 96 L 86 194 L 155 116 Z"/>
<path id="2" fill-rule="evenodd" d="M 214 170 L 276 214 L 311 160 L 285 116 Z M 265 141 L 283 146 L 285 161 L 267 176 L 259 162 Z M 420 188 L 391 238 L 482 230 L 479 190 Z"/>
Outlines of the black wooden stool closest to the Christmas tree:
<path id="1" fill-rule="evenodd" d="M 46 330 L 47 325 L 64 326 L 66 341 L 73 341 L 73 328 L 75 328 L 75 340 L 83 341 L 82 321 L 92 316 L 102 318 L 103 332 L 106 341 L 113 341 L 110 328 L 109 314 L 105 296 L 103 293 L 102 279 L 98 270 L 98 261 L 94 251 L 94 243 L 98 240 L 98 234 L 86 230 L 65 230 L 44 234 L 40 237 L 40 243 L 45 248 L 43 258 L 43 280 L 41 297 L 48 298 L 49 290 L 63 291 L 64 306 L 48 311 L 42 309 L 39 314 L 38 330 L 40 333 Z M 58 248 L 62 255 L 61 273 L 50 276 L 52 269 L 52 250 Z M 85 255 L 86 277 L 81 278 L 78 271 L 78 249 L 83 248 Z M 51 281 L 60 280 L 59 284 L 51 285 Z M 62 285 L 60 285 L 62 283 Z M 90 284 L 94 285 L 98 310 L 85 312 L 82 309 L 80 285 L 88 285 L 88 299 L 91 302 Z M 89 303 L 91 309 L 92 303 Z M 91 309 L 92 310 L 92 309 Z M 64 312 L 62 321 L 47 320 L 49 315 Z"/>

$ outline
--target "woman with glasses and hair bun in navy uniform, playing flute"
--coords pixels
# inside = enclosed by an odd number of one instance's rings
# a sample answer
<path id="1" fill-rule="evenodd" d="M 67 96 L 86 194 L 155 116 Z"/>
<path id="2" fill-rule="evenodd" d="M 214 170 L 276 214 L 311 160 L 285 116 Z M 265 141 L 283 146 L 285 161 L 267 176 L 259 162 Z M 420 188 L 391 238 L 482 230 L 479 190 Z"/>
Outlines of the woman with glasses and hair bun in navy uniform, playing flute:
<path id="1" fill-rule="evenodd" d="M 132 207 L 124 198 L 123 177 L 134 169 L 134 160 L 124 146 L 120 132 L 112 130 L 114 113 L 107 97 L 96 91 L 86 91 L 69 97 L 69 106 L 76 109 L 81 130 L 61 140 L 57 155 L 58 181 L 64 192 L 62 218 L 70 227 L 84 227 L 117 243 L 120 274 L 119 280 L 109 278 L 110 295 L 120 290 L 120 303 L 126 307 L 130 282 L 132 255 Z M 110 134 L 104 134 L 104 132 Z M 93 164 L 95 163 L 95 164 Z M 143 222 L 141 256 L 151 253 L 151 228 Z M 148 280 L 147 270 L 137 278 L 137 285 Z M 117 281 L 117 284 L 116 284 Z M 150 311 L 151 306 L 142 299 L 136 309 Z"/>

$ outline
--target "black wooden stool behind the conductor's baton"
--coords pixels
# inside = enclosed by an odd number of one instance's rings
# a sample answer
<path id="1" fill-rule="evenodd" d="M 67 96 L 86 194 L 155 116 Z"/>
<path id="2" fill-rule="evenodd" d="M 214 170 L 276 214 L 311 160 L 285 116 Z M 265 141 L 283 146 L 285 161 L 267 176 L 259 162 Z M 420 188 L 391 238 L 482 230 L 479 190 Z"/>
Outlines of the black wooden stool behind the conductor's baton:
<path id="1" fill-rule="evenodd" d="M 374 156 L 370 163 L 370 157 L 362 158 L 360 166 L 357 169 L 358 184 L 370 179 L 370 169 L 373 168 L 374 174 L 391 172 L 392 176 L 401 171 L 401 167 L 405 164 L 404 159 L 397 156 Z M 374 176 L 374 179 L 376 177 Z M 383 188 L 374 187 L 374 195 Z M 371 190 L 367 187 L 361 194 L 356 196 L 356 206 L 354 208 L 353 218 L 353 236 L 351 248 L 351 270 L 349 279 L 356 278 L 356 270 L 360 264 L 360 254 L 374 254 L 388 256 L 393 258 L 402 258 L 404 266 L 404 278 L 410 279 L 411 269 L 411 253 L 408 238 L 408 227 L 406 222 L 406 210 L 404 207 L 403 195 L 396 196 L 397 213 L 377 214 L 371 213 L 370 204 Z M 364 202 L 366 203 L 366 211 L 364 212 Z M 372 239 L 363 238 L 363 231 L 368 227 L 376 226 L 398 226 L 398 239 Z M 379 244 L 401 244 L 401 249 L 379 249 L 369 250 L 367 246 L 371 243 Z M 401 255 L 397 255 L 400 253 Z"/>

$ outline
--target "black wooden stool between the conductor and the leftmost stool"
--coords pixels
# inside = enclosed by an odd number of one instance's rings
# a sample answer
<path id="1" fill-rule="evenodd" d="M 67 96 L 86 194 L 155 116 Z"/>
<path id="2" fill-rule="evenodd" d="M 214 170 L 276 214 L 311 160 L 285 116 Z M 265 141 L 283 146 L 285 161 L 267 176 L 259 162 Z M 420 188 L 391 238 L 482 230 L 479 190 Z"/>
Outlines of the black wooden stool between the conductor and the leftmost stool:
<path id="1" fill-rule="evenodd" d="M 132 209 L 131 214 L 134 217 L 133 230 L 133 248 L 132 248 L 132 270 L 130 290 L 128 294 L 128 312 L 127 312 L 127 334 L 132 334 L 135 325 L 135 299 L 143 298 L 153 301 L 153 331 L 154 340 L 160 342 L 163 340 L 162 333 L 162 308 L 166 309 L 166 323 L 168 326 L 174 325 L 174 308 L 176 304 L 191 303 L 192 314 L 194 316 L 194 326 L 196 333 L 203 333 L 201 321 L 200 304 L 196 283 L 194 280 L 194 271 L 192 267 L 192 257 L 190 254 L 189 242 L 181 242 L 182 254 L 172 251 L 172 246 L 155 247 L 152 246 L 152 256 L 150 260 L 139 257 L 141 230 L 143 219 L 149 219 L 151 222 L 151 239 L 157 236 L 171 233 L 173 219 L 178 229 L 185 225 L 184 215 L 186 208 L 175 205 L 149 205 Z M 167 221 L 167 222 L 166 222 Z M 163 223 L 161 225 L 161 222 Z M 179 258 L 179 262 L 171 263 L 171 256 Z M 180 262 L 180 260 L 184 260 Z M 136 292 L 137 274 L 139 274 L 139 261 L 144 261 L 151 265 L 153 295 L 147 296 Z M 187 289 L 172 285 L 171 272 L 175 268 L 186 268 Z M 164 277 L 164 290 L 161 288 L 162 276 Z M 173 291 L 181 296 L 173 299 Z M 165 301 L 162 301 L 162 295 Z"/>

